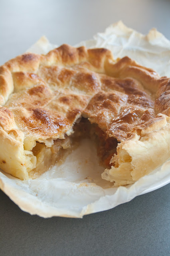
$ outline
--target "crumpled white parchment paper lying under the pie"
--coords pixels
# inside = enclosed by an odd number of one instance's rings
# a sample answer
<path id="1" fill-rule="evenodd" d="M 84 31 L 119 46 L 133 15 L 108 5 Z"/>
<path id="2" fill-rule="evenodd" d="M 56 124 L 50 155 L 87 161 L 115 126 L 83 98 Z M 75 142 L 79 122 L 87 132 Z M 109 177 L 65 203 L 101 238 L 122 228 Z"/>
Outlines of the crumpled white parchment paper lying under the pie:
<path id="1" fill-rule="evenodd" d="M 105 47 L 115 58 L 128 55 L 141 65 L 170 77 L 170 41 L 156 29 L 144 36 L 121 21 L 98 33 L 93 40 L 76 46 Z M 57 47 L 43 36 L 28 51 L 47 53 Z M 21 181 L 4 171 L 0 172 L 0 188 L 24 211 L 44 218 L 52 216 L 82 218 L 111 209 L 134 197 L 162 187 L 170 182 L 170 161 L 140 178 L 132 185 L 112 187 L 101 179 L 103 167 L 95 146 L 83 139 L 62 165 L 56 165 L 41 177 Z"/>

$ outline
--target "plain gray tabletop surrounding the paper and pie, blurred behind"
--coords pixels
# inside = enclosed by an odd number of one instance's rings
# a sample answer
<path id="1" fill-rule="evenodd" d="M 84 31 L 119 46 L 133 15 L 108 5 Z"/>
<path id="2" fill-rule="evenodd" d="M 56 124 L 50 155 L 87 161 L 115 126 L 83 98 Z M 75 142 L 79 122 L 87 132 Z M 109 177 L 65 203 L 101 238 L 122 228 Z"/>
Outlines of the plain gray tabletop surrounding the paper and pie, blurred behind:
<path id="1" fill-rule="evenodd" d="M 0 64 L 42 35 L 76 44 L 118 20 L 170 39 L 168 0 L 1 0 Z M 170 255 L 170 184 L 83 219 L 31 216 L 0 191 L 0 255 Z"/>

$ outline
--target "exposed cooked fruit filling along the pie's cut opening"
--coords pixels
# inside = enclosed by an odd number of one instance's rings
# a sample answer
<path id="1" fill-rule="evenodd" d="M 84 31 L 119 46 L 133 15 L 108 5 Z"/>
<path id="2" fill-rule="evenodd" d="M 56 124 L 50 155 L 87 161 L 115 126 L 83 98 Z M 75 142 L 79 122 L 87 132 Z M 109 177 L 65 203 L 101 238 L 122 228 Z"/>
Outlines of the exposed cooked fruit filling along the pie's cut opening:
<path id="1" fill-rule="evenodd" d="M 53 140 L 51 147 L 46 147 L 45 143 L 36 142 L 32 152 L 36 157 L 36 167 L 29 172 L 29 177 L 36 178 L 47 171 L 55 163 L 62 163 L 65 157 L 75 148 L 83 138 L 90 138 L 97 147 L 97 155 L 100 164 L 105 168 L 110 168 L 111 158 L 117 151 L 117 139 L 107 137 L 98 125 L 91 124 L 88 119 L 77 120 L 73 127 L 74 133 L 70 136 L 65 135 L 64 139 Z"/>

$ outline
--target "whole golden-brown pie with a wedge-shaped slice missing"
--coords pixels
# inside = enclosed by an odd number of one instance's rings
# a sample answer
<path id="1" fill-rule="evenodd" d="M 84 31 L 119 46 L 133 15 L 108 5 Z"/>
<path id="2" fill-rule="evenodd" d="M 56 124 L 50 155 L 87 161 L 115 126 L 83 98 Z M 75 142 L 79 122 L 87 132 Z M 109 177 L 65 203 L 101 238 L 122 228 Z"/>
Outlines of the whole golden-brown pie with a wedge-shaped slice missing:
<path id="1" fill-rule="evenodd" d="M 170 157 L 170 79 L 105 48 L 63 44 L 6 62 L 0 105 L 0 168 L 20 179 L 38 177 L 83 135 L 114 185 Z"/>

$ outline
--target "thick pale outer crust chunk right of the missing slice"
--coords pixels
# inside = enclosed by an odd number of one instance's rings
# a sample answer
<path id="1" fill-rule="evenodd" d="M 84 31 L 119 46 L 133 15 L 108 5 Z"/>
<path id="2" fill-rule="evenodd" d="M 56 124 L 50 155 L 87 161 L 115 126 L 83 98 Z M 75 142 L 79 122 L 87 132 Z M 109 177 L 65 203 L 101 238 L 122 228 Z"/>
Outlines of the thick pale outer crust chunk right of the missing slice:
<path id="1" fill-rule="evenodd" d="M 102 178 L 116 185 L 134 183 L 161 166 L 170 157 L 170 117 L 158 114 L 144 125 L 134 127 L 128 139 L 118 144 L 111 169 Z"/>

